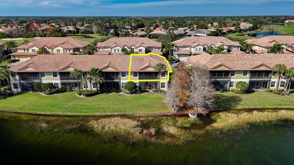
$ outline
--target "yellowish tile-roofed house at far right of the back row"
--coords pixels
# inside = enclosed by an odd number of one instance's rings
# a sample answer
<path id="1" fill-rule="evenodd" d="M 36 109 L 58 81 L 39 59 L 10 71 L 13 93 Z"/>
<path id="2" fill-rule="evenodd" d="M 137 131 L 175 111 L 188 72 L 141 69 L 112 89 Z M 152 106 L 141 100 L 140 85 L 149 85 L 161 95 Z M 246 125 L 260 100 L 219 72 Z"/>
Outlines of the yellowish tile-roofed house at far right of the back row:
<path id="1" fill-rule="evenodd" d="M 284 47 L 283 53 L 294 52 L 294 36 L 266 36 L 245 40 L 246 43 L 253 45 L 253 52 L 267 53 L 268 49 L 275 43 L 280 43 Z"/>

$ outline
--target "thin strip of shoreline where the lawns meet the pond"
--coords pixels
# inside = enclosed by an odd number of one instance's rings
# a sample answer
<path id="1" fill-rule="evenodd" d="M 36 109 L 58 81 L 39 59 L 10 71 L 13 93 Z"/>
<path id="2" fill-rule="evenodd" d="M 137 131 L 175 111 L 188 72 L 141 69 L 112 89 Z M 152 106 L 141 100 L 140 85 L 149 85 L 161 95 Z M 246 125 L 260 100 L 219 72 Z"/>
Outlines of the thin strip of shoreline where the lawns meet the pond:
<path id="1" fill-rule="evenodd" d="M 294 107 L 264 107 L 264 108 L 235 108 L 235 109 L 219 109 L 210 112 L 225 112 L 232 110 L 294 110 Z M 46 115 L 46 116 L 61 116 L 61 117 L 108 117 L 108 116 L 180 116 L 180 115 L 188 115 L 189 111 L 183 112 L 166 112 L 166 113 L 153 113 L 153 114 L 106 114 L 106 115 L 68 115 L 68 114 L 46 114 L 46 113 L 37 113 L 37 112 L 23 112 L 16 110 L 2 110 L 0 112 L 9 112 L 9 113 L 20 113 L 20 114 L 31 114 L 31 115 Z M 199 115 L 199 113 L 197 113 Z M 209 113 L 208 113 L 209 114 Z"/>

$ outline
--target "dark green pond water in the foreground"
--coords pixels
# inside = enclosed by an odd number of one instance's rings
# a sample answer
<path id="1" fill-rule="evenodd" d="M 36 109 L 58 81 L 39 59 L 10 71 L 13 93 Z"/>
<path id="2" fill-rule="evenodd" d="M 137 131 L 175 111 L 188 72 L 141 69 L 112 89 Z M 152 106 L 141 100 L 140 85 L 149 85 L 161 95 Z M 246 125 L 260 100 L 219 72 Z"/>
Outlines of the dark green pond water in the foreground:
<path id="1" fill-rule="evenodd" d="M 16 116 L 16 117 L 15 117 Z M 31 164 L 294 164 L 294 123 L 252 126 L 238 140 L 206 136 L 184 146 L 103 143 L 88 133 L 36 133 L 22 120 L 56 117 L 0 112 L 0 160 Z M 92 117 L 95 118 L 95 117 Z M 205 119 L 204 119 L 205 120 Z"/>

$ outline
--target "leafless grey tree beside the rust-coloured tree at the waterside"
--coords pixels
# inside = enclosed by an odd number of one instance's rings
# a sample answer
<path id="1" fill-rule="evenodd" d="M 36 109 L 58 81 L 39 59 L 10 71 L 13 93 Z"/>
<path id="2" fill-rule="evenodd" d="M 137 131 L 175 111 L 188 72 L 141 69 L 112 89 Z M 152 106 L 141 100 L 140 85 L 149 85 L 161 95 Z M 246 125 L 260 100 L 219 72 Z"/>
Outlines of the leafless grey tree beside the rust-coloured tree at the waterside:
<path id="1" fill-rule="evenodd" d="M 206 115 L 215 103 L 215 89 L 211 83 L 208 70 L 200 67 L 191 68 L 190 97 L 188 107 L 198 110 Z"/>

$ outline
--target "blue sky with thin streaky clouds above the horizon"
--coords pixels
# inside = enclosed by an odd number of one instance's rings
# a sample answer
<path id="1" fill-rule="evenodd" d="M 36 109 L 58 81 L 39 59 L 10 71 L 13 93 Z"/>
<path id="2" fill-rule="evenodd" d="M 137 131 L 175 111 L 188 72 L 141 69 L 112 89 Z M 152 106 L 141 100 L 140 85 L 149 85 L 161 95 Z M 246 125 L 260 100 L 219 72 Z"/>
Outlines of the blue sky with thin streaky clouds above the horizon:
<path id="1" fill-rule="evenodd" d="M 0 0 L 0 16 L 294 15 L 294 0 Z"/>

